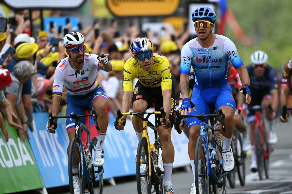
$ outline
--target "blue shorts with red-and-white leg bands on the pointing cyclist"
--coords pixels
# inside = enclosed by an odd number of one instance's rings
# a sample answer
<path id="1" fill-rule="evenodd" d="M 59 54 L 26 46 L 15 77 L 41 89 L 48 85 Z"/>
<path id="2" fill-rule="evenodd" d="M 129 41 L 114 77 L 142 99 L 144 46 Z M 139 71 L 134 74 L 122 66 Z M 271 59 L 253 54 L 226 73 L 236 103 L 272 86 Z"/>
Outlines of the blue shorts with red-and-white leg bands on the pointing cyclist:
<path id="1" fill-rule="evenodd" d="M 107 99 L 105 92 L 99 85 L 95 88 L 95 90 L 87 93 L 86 95 L 72 96 L 67 94 L 66 115 L 70 115 L 72 113 L 84 115 L 88 108 L 93 110 L 93 100 L 98 97 Z M 85 117 L 80 118 L 80 122 L 85 124 Z M 66 119 L 66 130 L 69 131 L 71 129 L 75 129 L 75 119 Z"/>

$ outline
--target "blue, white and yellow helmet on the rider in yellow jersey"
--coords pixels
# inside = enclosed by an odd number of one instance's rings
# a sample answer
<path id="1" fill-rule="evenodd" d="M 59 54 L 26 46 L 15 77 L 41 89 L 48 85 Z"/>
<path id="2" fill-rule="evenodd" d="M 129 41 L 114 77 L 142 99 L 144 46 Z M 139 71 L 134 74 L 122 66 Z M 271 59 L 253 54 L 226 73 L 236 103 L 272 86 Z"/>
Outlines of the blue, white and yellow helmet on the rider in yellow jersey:
<path id="1" fill-rule="evenodd" d="M 133 40 L 130 46 L 130 50 L 133 55 L 137 55 L 139 53 L 144 53 L 147 51 L 153 51 L 153 44 L 146 37 L 138 37 Z"/>

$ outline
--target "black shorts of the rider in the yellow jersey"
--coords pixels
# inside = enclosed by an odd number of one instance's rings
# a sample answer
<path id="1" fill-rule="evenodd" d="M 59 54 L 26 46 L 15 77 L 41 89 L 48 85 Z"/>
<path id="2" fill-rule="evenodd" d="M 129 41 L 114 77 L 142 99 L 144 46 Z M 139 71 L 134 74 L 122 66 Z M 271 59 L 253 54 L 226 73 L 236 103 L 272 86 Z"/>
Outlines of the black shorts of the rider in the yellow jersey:
<path id="1" fill-rule="evenodd" d="M 175 117 L 175 111 L 176 111 L 176 102 L 175 102 L 175 92 L 174 92 L 174 86 L 172 82 L 171 86 L 171 110 L 169 114 L 169 121 L 171 122 L 171 127 L 173 127 L 173 121 Z M 160 108 L 163 107 L 163 97 L 162 97 L 162 91 L 161 86 L 156 88 L 150 88 L 143 86 L 140 81 L 137 81 L 133 96 L 132 96 L 132 104 L 136 100 L 145 100 L 147 102 L 147 109 L 152 106 L 154 103 L 155 105 L 155 111 L 160 111 Z M 164 110 L 165 111 L 165 110 Z M 161 118 L 161 115 L 158 115 L 158 119 Z M 161 126 L 161 122 L 157 122 L 157 127 Z"/>

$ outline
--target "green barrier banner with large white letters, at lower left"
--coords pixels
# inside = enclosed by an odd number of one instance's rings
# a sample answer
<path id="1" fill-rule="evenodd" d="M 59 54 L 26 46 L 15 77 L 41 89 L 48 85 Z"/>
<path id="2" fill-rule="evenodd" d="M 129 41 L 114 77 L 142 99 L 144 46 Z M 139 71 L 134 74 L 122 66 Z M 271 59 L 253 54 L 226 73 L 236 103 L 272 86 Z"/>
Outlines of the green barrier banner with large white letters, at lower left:
<path id="1" fill-rule="evenodd" d="M 5 122 L 9 141 L 0 138 L 0 194 L 43 188 L 28 140 L 22 143 L 17 130 Z"/>

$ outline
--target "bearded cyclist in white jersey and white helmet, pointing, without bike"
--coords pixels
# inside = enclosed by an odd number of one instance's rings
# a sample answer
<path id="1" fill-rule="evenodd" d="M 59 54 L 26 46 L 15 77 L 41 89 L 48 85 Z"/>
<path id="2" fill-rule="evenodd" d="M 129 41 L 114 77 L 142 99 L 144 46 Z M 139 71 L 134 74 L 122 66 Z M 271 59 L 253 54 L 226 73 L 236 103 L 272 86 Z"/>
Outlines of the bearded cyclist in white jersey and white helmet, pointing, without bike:
<path id="1" fill-rule="evenodd" d="M 106 72 L 112 71 L 112 65 L 105 54 L 104 58 L 96 54 L 85 53 L 84 36 L 79 32 L 70 32 L 63 38 L 63 46 L 66 49 L 67 58 L 61 60 L 55 70 L 55 80 L 53 83 L 53 102 L 52 115 L 57 116 L 60 109 L 60 101 L 63 92 L 63 86 L 67 90 L 67 109 L 66 115 L 85 114 L 87 108 L 95 109 L 98 115 L 98 142 L 95 149 L 94 166 L 104 164 L 103 143 L 108 125 L 107 116 L 107 97 L 103 89 L 96 81 L 98 67 Z M 80 118 L 85 123 L 85 118 Z M 75 137 L 75 120 L 66 119 L 66 129 L 70 142 Z M 48 124 L 47 124 L 48 128 Z M 48 129 L 54 132 L 57 128 L 57 119 Z M 85 145 L 85 144 L 84 144 Z M 86 145 L 85 145 L 86 146 Z M 86 150 L 86 147 L 84 147 Z"/>

